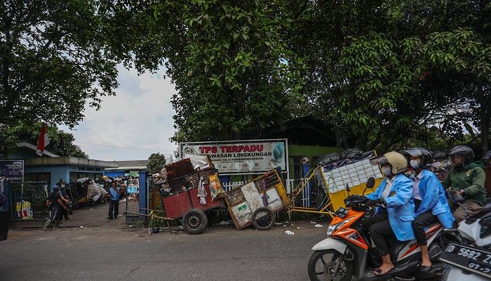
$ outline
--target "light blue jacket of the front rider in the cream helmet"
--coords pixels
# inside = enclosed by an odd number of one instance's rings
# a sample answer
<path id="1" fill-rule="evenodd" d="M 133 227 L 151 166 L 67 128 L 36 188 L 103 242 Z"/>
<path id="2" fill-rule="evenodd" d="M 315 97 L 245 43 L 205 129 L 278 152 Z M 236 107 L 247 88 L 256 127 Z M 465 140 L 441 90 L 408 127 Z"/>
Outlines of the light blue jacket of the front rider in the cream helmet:
<path id="1" fill-rule="evenodd" d="M 415 220 L 415 202 L 412 199 L 412 181 L 398 174 L 394 176 L 389 195 L 385 197 L 387 214 L 392 230 L 396 233 L 397 240 L 408 241 L 415 239 L 415 233 L 412 231 L 412 221 Z M 375 192 L 367 195 L 371 200 L 382 198 L 387 178 L 380 183 Z M 377 213 L 381 210 L 379 207 Z"/>

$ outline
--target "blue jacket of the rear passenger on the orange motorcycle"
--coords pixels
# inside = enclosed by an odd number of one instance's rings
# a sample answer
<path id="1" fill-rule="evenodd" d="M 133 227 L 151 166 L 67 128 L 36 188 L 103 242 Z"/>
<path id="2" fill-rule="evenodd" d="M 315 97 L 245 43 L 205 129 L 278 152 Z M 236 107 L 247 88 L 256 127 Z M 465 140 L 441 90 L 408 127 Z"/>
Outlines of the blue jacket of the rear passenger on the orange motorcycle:
<path id="1" fill-rule="evenodd" d="M 418 176 L 421 178 L 418 188 L 422 201 L 416 211 L 416 216 L 431 210 L 431 214 L 438 216 L 438 221 L 444 228 L 452 228 L 455 218 L 450 211 L 450 206 L 448 206 L 445 190 L 443 190 L 436 174 L 424 169 Z"/>

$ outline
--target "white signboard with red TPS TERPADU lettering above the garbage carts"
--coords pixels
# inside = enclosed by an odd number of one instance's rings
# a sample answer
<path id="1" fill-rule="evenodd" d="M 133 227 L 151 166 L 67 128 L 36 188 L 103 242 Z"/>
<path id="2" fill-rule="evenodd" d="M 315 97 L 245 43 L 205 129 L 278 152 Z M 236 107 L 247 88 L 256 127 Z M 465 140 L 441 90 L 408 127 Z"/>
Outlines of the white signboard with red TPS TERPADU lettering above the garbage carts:
<path id="1" fill-rule="evenodd" d="M 288 171 L 288 140 L 180 143 L 179 155 L 208 155 L 222 175 Z"/>

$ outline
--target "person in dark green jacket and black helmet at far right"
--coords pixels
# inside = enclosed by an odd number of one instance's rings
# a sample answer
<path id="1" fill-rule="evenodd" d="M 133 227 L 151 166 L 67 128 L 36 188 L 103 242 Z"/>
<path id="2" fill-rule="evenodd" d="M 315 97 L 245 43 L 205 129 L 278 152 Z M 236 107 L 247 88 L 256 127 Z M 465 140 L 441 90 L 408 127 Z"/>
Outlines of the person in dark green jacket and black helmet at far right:
<path id="1" fill-rule="evenodd" d="M 448 158 L 454 167 L 448 171 L 442 185 L 447 190 L 459 192 L 465 199 L 462 203 L 465 208 L 459 206 L 454 211 L 455 221 L 459 223 L 466 218 L 466 209 L 469 216 L 472 216 L 486 204 L 486 174 L 483 168 L 473 163 L 474 152 L 469 146 L 455 146 L 448 152 Z"/>

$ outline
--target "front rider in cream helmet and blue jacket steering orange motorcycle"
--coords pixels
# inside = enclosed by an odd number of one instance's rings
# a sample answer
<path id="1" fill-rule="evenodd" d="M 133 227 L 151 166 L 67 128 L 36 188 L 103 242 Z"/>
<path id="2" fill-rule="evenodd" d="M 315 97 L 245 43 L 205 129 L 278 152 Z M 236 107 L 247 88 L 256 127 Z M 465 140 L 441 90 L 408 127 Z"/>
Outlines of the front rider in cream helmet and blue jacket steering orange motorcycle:
<path id="1" fill-rule="evenodd" d="M 386 275 L 394 268 L 389 255 L 389 242 L 408 241 L 415 238 L 411 223 L 415 219 L 415 204 L 412 200 L 412 182 L 402 173 L 407 168 L 406 159 L 399 152 L 387 152 L 370 159 L 372 165 L 382 166 L 386 178 L 375 192 L 366 195 L 368 206 L 379 205 L 375 216 L 365 218 L 362 228 L 370 233 L 382 265 L 375 275 Z"/>

